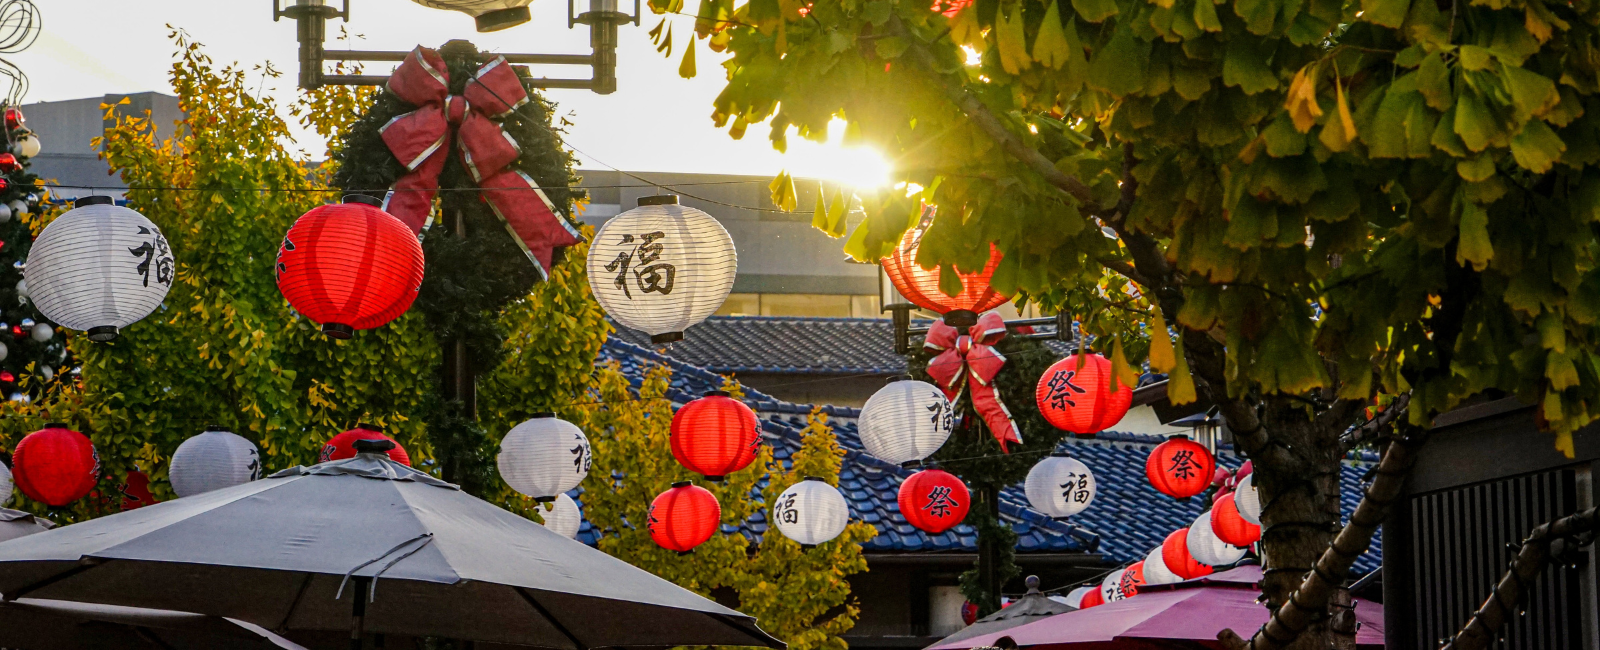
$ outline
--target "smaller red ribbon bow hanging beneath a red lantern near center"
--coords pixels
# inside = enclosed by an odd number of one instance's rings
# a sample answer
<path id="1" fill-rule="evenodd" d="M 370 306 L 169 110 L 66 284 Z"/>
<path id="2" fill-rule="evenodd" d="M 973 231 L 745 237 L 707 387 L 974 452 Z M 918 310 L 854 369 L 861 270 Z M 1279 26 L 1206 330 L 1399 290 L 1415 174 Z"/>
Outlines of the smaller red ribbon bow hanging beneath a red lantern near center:
<path id="1" fill-rule="evenodd" d="M 1000 442 L 1000 451 L 1011 453 L 1006 450 L 1006 443 L 1021 445 L 1022 432 L 1018 431 L 1005 402 L 1000 402 L 1000 391 L 994 384 L 995 375 L 1000 375 L 1000 368 L 1005 367 L 1005 355 L 994 347 L 1002 338 L 1005 338 L 1005 319 L 1000 314 L 987 312 L 979 315 L 978 325 L 968 328 L 966 333 L 946 325 L 944 320 L 934 322 L 922 346 L 941 351 L 928 362 L 928 376 L 944 389 L 944 395 L 955 402 L 965 383 L 973 395 L 973 408 Z"/>

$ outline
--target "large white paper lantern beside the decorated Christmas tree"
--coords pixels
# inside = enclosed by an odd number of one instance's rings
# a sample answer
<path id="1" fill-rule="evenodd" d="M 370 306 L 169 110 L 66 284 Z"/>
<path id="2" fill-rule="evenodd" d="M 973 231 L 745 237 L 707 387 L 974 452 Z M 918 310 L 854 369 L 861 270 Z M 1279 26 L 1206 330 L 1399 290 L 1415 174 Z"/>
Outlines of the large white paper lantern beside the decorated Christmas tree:
<path id="1" fill-rule="evenodd" d="M 110 341 L 166 298 L 173 251 L 150 219 L 110 197 L 75 205 L 34 240 L 27 295 L 46 319 L 86 330 L 90 341 Z"/>

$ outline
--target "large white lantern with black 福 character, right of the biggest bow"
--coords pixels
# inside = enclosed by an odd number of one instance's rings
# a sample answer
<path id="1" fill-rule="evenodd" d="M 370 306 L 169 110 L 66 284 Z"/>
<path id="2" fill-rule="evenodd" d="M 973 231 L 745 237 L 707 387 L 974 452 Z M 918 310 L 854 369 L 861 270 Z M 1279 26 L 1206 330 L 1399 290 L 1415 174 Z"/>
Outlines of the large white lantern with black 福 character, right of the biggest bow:
<path id="1" fill-rule="evenodd" d="M 678 197 L 645 197 L 613 216 L 589 245 L 589 288 L 622 327 L 653 343 L 683 339 L 683 330 L 722 307 L 739 256 L 733 237 L 710 215 Z"/>

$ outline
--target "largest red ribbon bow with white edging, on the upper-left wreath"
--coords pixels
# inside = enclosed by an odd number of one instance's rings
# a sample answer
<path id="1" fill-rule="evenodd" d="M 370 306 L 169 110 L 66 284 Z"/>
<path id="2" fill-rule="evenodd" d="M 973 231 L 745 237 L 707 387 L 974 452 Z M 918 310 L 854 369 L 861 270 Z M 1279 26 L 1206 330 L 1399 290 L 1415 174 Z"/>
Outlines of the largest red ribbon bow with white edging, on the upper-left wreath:
<path id="1" fill-rule="evenodd" d="M 464 94 L 450 94 L 450 69 L 437 51 L 416 48 L 389 77 L 389 91 L 418 106 L 384 125 L 384 144 L 408 173 L 395 183 L 384 210 L 411 231 L 430 223 L 438 173 L 456 136 L 461 162 L 482 187 L 482 199 L 522 245 L 523 253 L 549 277 L 555 250 L 582 242 L 571 224 L 555 213 L 550 197 L 528 175 L 507 170 L 522 149 L 493 118 L 528 102 L 517 72 L 504 58 L 483 64 Z"/>

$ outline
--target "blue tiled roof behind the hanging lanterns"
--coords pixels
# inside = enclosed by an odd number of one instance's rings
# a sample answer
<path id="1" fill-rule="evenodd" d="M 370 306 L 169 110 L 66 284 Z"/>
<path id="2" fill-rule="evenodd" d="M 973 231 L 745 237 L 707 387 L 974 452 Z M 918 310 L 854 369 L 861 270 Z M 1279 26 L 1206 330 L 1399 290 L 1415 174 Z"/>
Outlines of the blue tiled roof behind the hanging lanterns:
<path id="1" fill-rule="evenodd" d="M 619 362 L 622 373 L 635 386 L 648 365 L 669 363 L 672 384 L 667 389 L 667 397 L 678 403 L 696 399 L 722 384 L 722 376 L 717 373 L 618 338 L 606 341 L 600 355 L 602 360 Z M 746 403 L 763 418 L 766 442 L 778 458 L 787 458 L 800 448 L 800 429 L 805 427 L 805 415 L 811 411 L 811 405 L 782 402 L 749 387 L 746 387 Z M 822 410 L 832 418 L 834 432 L 845 448 L 840 492 L 850 501 L 851 519 L 878 528 L 878 536 L 866 544 L 867 551 L 976 551 L 978 538 L 968 525 L 958 525 L 941 535 L 928 535 L 906 524 L 899 514 L 896 493 L 899 483 L 912 471 L 885 464 L 862 451 L 854 421 L 861 415 L 859 410 L 848 407 L 822 407 Z M 1144 477 L 1144 459 L 1150 448 L 1162 440 L 1158 435 L 1107 431 L 1094 440 L 1072 439 L 1066 442 L 1066 450 L 1094 471 L 1098 485 L 1094 504 L 1069 522 L 1058 522 L 1029 508 L 1021 485 L 1003 490 L 1000 517 L 1018 533 L 1018 552 L 1085 552 L 1098 546 L 1098 552 L 1110 562 L 1134 562 L 1160 544 L 1168 533 L 1194 522 L 1203 511 L 1200 498 L 1187 503 L 1174 501 L 1155 492 Z M 1219 451 L 1219 463 L 1237 467 L 1242 461 L 1232 450 L 1224 448 Z M 1346 517 L 1355 511 L 1355 504 L 1360 501 L 1362 477 L 1370 466 L 1371 459 L 1352 459 L 1344 466 L 1341 488 Z M 752 520 L 744 527 L 744 533 L 752 536 L 765 532 L 765 520 Z M 587 522 L 584 522 L 579 540 L 594 543 L 594 533 Z M 1365 573 L 1378 568 L 1378 564 L 1379 540 L 1374 536 L 1368 554 L 1357 562 L 1357 570 Z"/>

